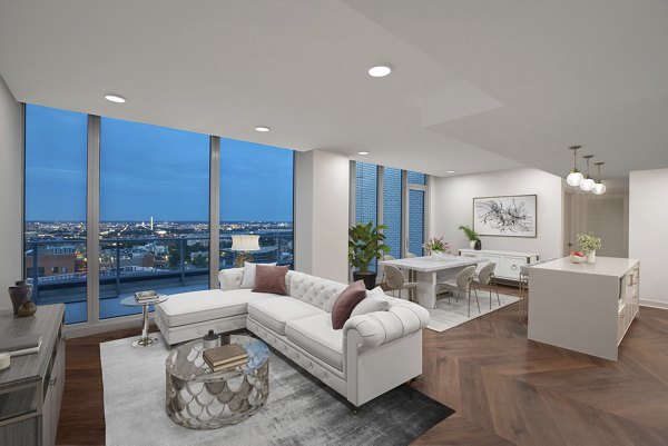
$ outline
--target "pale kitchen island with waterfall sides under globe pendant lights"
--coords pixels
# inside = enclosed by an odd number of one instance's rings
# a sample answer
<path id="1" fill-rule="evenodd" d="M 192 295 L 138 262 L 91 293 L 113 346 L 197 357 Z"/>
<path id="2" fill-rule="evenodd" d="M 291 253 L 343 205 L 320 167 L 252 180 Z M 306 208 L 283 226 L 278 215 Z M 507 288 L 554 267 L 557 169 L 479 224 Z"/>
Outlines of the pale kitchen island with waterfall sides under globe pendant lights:
<path id="1" fill-rule="evenodd" d="M 531 267 L 529 339 L 617 360 L 618 346 L 638 315 L 639 261 L 568 257 Z"/>

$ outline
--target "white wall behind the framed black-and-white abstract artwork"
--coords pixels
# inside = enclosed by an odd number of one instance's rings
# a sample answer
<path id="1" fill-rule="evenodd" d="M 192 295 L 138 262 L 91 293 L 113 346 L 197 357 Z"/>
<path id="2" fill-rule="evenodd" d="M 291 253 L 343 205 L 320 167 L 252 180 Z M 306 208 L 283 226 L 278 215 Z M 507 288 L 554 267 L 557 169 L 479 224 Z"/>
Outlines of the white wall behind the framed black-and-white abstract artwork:
<path id="1" fill-rule="evenodd" d="M 431 190 L 431 236 L 444 236 L 458 249 L 469 248 L 469 240 L 458 229 L 473 225 L 473 197 L 537 195 L 536 238 L 481 236 L 482 249 L 537 252 L 542 259 L 562 257 L 561 178 L 539 169 L 513 169 L 498 172 L 434 178 Z"/>

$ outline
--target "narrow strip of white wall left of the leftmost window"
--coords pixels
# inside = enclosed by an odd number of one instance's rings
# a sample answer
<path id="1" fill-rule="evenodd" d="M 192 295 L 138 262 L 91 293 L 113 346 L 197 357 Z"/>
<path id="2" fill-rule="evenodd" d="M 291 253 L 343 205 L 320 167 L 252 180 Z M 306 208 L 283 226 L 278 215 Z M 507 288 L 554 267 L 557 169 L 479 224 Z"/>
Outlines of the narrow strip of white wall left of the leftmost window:
<path id="1" fill-rule="evenodd" d="M 0 78 L 0 309 L 11 308 L 7 287 L 22 278 L 22 117 Z"/>

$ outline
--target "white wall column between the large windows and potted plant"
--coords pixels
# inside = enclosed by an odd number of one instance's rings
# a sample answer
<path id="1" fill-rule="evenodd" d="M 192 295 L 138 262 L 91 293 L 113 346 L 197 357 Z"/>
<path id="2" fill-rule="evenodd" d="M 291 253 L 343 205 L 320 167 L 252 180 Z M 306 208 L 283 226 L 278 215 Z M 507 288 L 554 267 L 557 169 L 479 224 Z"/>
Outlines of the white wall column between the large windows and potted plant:
<path id="1" fill-rule="evenodd" d="M 295 269 L 347 284 L 350 160 L 322 150 L 295 156 Z"/>

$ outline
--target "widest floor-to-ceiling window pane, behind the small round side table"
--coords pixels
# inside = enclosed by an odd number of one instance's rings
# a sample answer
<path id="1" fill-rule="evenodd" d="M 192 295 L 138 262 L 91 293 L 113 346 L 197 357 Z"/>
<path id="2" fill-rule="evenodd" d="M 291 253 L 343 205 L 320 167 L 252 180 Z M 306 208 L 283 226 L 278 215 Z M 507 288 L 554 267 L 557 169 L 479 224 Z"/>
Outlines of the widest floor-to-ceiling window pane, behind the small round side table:
<path id="1" fill-rule="evenodd" d="M 135 291 L 208 288 L 209 137 L 102 118 L 100 318 Z"/>

